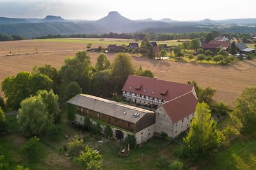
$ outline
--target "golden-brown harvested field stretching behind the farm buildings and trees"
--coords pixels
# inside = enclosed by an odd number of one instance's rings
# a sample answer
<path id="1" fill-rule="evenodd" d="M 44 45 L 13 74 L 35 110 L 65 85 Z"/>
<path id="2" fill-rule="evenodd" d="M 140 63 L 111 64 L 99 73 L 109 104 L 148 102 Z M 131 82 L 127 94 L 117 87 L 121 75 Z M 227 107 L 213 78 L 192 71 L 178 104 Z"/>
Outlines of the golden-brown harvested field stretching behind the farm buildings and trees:
<path id="1" fill-rule="evenodd" d="M 77 51 L 86 50 L 86 42 L 92 43 L 93 47 L 108 46 L 105 44 L 106 42 L 128 43 L 127 39 L 122 41 L 104 39 L 104 43 L 99 39 L 40 39 L 1 42 L 0 81 L 3 81 L 6 76 L 19 73 L 19 71 L 31 71 L 34 66 L 51 64 L 59 68 L 65 57 L 74 56 Z M 95 64 L 99 53 L 88 52 L 88 55 L 91 57 L 92 64 Z M 108 57 L 113 61 L 115 53 L 108 53 Z M 196 81 L 201 87 L 212 87 L 217 91 L 214 99 L 224 101 L 230 106 L 245 87 L 256 85 L 256 60 L 243 60 L 230 66 L 218 66 L 132 56 L 132 62 L 135 67 L 141 66 L 143 69 L 150 69 L 159 79 L 180 83 Z M 3 93 L 0 95 L 3 96 Z"/>

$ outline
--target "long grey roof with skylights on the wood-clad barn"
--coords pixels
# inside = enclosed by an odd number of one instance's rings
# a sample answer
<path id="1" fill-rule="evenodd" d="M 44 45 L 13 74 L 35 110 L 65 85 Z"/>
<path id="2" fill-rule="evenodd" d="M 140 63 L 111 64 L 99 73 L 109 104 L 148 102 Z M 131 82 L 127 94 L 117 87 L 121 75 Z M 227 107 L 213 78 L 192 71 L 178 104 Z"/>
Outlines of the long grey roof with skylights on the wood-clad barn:
<path id="1" fill-rule="evenodd" d="M 77 94 L 77 96 L 70 99 L 68 103 L 134 124 L 147 113 L 154 113 L 154 111 L 137 108 L 127 104 L 117 103 L 115 101 L 86 94 Z M 139 113 L 140 115 L 135 116 L 135 113 Z"/>

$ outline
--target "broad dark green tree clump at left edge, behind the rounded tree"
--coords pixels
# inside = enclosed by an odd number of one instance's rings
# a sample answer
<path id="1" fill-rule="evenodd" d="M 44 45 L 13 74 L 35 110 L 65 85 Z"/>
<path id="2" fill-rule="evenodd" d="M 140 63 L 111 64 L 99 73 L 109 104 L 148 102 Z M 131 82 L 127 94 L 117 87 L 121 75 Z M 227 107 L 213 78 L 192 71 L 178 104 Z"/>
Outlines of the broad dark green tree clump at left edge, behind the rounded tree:
<path id="1" fill-rule="evenodd" d="M 15 110 L 20 102 L 38 90 L 51 90 L 52 80 L 44 74 L 32 74 L 22 71 L 16 76 L 5 78 L 2 81 L 2 90 L 6 98 L 6 106 Z"/>

